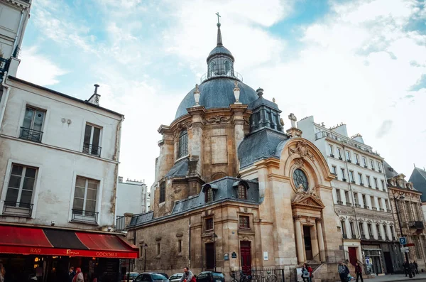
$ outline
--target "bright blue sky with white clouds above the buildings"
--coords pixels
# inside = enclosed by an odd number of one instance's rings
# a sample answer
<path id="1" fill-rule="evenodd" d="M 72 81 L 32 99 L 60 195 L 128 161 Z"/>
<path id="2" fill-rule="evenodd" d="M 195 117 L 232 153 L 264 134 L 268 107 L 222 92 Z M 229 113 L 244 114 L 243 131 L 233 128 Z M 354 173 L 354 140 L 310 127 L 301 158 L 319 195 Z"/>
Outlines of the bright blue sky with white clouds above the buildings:
<path id="1" fill-rule="evenodd" d="M 344 123 L 409 177 L 426 166 L 417 0 L 33 0 L 18 77 L 125 115 L 119 175 L 151 186 L 158 128 L 207 72 L 217 16 L 234 69 L 287 116 Z"/>

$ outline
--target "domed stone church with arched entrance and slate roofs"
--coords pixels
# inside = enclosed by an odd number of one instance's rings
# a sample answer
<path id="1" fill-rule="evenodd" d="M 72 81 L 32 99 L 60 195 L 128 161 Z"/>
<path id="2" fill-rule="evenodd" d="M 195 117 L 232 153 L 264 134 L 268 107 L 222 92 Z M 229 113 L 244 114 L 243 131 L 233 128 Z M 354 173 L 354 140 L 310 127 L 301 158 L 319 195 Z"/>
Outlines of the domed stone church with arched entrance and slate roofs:
<path id="1" fill-rule="evenodd" d="M 227 274 L 309 261 L 337 277 L 334 175 L 294 114 L 285 131 L 275 99 L 244 84 L 220 27 L 201 84 L 158 129 L 151 211 L 127 215 L 141 250 L 134 271 Z"/>

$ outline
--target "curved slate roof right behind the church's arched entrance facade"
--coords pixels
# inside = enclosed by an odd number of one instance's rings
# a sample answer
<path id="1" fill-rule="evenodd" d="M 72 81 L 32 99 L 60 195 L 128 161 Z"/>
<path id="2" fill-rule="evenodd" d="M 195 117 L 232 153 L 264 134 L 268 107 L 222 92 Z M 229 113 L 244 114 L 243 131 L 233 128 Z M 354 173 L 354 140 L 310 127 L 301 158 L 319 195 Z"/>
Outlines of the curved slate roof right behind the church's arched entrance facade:
<path id="1" fill-rule="evenodd" d="M 240 168 L 251 166 L 263 158 L 280 158 L 289 137 L 283 132 L 263 127 L 246 136 L 238 147 Z"/>

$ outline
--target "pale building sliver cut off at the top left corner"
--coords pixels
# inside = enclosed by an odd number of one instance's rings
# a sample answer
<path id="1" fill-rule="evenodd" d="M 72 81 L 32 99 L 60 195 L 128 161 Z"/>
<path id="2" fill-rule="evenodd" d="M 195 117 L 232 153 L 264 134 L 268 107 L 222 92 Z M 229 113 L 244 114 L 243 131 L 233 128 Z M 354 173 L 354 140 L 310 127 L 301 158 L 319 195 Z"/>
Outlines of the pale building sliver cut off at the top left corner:
<path id="1" fill-rule="evenodd" d="M 31 0 L 0 0 L 0 77 L 8 70 L 16 75 L 30 8 Z"/>

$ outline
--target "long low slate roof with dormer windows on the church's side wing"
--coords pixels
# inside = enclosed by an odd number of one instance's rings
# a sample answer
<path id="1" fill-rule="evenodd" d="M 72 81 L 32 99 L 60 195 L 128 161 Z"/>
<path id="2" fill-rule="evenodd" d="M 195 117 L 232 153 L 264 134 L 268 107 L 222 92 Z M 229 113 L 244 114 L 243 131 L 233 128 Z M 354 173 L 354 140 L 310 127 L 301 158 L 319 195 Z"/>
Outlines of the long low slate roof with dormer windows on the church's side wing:
<path id="1" fill-rule="evenodd" d="M 127 227 L 131 228 L 141 224 L 155 222 L 168 217 L 180 215 L 190 210 L 197 210 L 205 206 L 217 204 L 218 202 L 224 202 L 226 200 L 233 200 L 236 202 L 246 202 L 246 203 L 260 205 L 263 199 L 260 199 L 259 197 L 259 188 L 258 188 L 258 183 L 256 181 L 244 180 L 249 185 L 249 189 L 247 189 L 247 200 L 238 199 L 237 190 L 236 188 L 234 188 L 234 184 L 238 183 L 238 181 L 241 181 L 241 180 L 243 179 L 225 177 L 219 180 L 212 181 L 211 183 L 208 183 L 208 184 L 214 185 L 217 188 L 217 190 L 215 190 L 214 200 L 212 202 L 206 203 L 204 192 L 200 192 L 199 195 L 175 202 L 175 207 L 173 207 L 173 211 L 170 215 L 165 215 L 163 217 L 158 217 L 158 218 L 153 218 L 153 212 L 146 212 L 140 215 L 133 215 L 129 226 Z"/>

